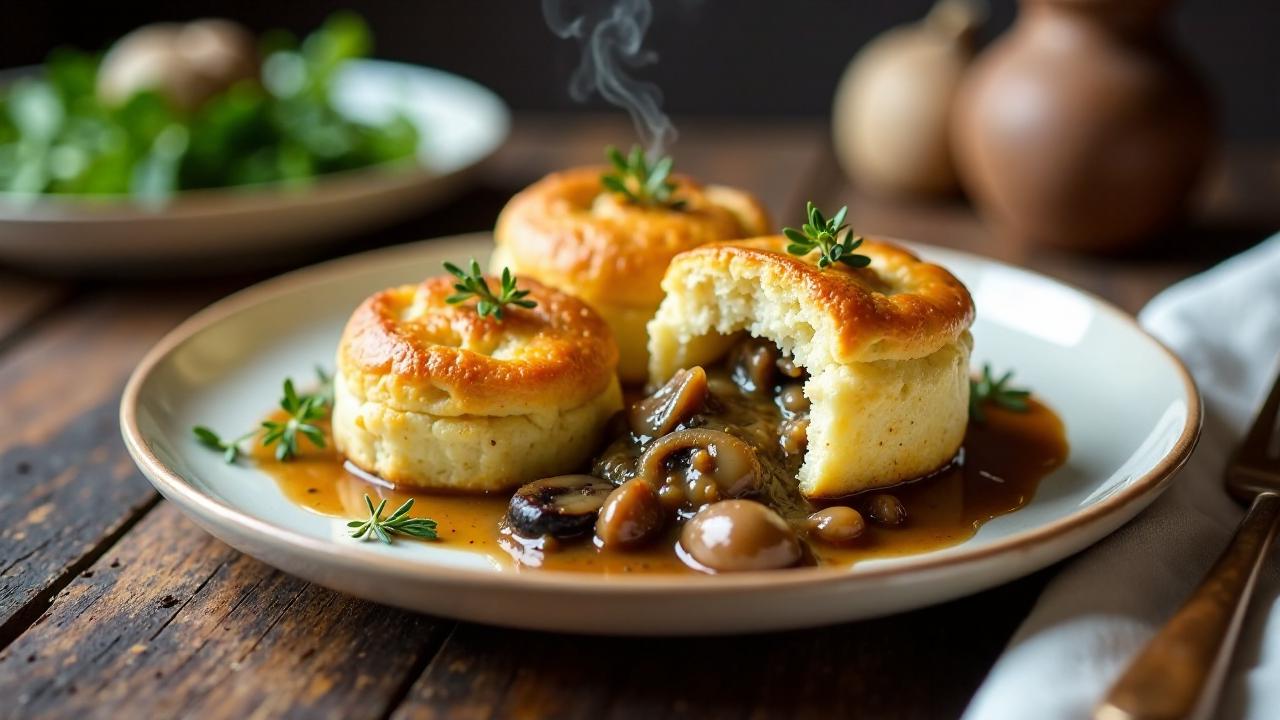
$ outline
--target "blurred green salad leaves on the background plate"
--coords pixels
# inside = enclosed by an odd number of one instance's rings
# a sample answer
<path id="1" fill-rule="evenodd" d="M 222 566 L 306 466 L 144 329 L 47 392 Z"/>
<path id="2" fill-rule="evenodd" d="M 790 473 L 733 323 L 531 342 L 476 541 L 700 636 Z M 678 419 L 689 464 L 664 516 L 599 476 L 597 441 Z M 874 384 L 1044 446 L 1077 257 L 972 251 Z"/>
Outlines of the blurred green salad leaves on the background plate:
<path id="1" fill-rule="evenodd" d="M 416 155 L 419 132 L 403 115 L 358 122 L 332 101 L 343 63 L 372 49 L 358 15 L 337 13 L 301 42 L 268 33 L 261 46 L 259 81 L 233 85 L 192 111 L 155 92 L 119 106 L 100 102 L 100 58 L 55 50 L 40 77 L 0 88 L 0 191 L 164 202 L 183 190 L 306 184 Z"/>

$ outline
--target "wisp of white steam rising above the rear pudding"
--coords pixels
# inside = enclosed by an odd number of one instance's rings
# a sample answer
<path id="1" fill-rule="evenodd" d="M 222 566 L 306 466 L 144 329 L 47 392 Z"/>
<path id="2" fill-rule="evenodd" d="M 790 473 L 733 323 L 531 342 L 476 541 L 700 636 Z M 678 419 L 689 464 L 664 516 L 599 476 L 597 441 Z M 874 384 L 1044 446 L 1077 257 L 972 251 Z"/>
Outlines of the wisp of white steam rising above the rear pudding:
<path id="1" fill-rule="evenodd" d="M 630 68 L 658 60 L 657 53 L 641 46 L 653 6 L 649 0 L 585 4 L 588 9 L 573 12 L 570 0 L 543 0 L 543 15 L 552 32 L 582 44 L 582 61 L 570 78 L 570 96 L 582 102 L 593 91 L 599 92 L 631 115 L 650 154 L 662 152 L 676 140 L 676 126 L 662 111 L 662 91 L 627 74 Z"/>

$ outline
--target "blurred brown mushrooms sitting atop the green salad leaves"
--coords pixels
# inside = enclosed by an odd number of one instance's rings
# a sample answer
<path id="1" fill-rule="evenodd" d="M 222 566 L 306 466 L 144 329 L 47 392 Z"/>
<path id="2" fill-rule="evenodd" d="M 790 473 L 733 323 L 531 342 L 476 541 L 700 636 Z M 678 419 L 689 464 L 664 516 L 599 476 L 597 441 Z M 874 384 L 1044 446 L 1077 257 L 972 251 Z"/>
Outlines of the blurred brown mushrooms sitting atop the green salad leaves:
<path id="1" fill-rule="evenodd" d="M 122 105 L 143 91 L 191 111 L 234 83 L 256 78 L 253 36 L 223 19 L 156 23 L 125 35 L 108 50 L 97 70 L 97 97 Z"/>

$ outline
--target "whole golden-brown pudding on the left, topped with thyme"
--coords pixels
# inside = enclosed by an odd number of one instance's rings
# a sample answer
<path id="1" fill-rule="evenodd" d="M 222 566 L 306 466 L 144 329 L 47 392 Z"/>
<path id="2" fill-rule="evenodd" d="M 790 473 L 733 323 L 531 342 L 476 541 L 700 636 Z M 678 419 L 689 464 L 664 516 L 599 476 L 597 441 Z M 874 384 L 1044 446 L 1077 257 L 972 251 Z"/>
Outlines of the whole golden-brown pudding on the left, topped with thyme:
<path id="1" fill-rule="evenodd" d="M 502 319 L 447 302 L 449 277 L 362 302 L 338 346 L 337 448 L 387 482 L 466 492 L 582 465 L 622 406 L 617 346 L 582 301 L 520 284 L 536 305 Z"/>

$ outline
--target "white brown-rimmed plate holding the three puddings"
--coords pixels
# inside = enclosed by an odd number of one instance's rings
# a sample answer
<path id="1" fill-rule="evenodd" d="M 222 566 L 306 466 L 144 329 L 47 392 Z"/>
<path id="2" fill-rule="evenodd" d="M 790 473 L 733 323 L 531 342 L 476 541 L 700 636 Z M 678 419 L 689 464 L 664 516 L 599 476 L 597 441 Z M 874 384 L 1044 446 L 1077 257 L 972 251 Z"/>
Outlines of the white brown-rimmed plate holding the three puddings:
<path id="1" fill-rule="evenodd" d="M 124 391 L 129 452 L 210 533 L 276 568 L 379 602 L 522 628 L 621 634 L 820 625 L 955 598 L 1024 575 L 1111 533 L 1190 454 L 1199 400 L 1181 364 L 1124 313 L 1044 277 L 932 247 L 978 305 L 974 360 L 1016 368 L 1066 424 L 1070 457 L 1023 510 L 961 544 L 852 568 L 719 577 L 600 577 L 503 570 L 428 543 L 361 543 L 302 510 L 251 466 L 196 445 L 195 424 L 253 427 L 282 378 L 330 361 L 366 295 L 489 254 L 488 236 L 393 247 L 291 273 L 191 318 Z"/>

